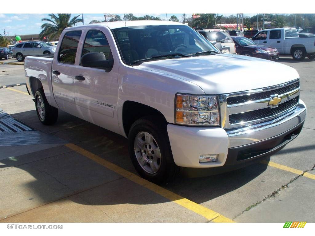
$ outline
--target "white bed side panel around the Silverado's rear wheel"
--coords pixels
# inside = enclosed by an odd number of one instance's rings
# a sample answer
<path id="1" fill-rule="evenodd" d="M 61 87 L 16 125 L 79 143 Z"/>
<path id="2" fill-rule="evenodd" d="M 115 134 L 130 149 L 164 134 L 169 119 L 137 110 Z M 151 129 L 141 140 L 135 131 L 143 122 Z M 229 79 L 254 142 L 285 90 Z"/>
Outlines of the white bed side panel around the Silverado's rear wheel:
<path id="1" fill-rule="evenodd" d="M 32 57 L 28 56 L 25 58 L 25 76 L 26 84 L 34 97 L 36 91 L 33 91 L 31 86 L 31 77 L 37 78 L 43 85 L 43 90 L 47 98 L 48 103 L 51 106 L 58 107 L 54 99 L 53 88 L 51 83 L 51 67 L 53 59 L 44 57 Z"/>

